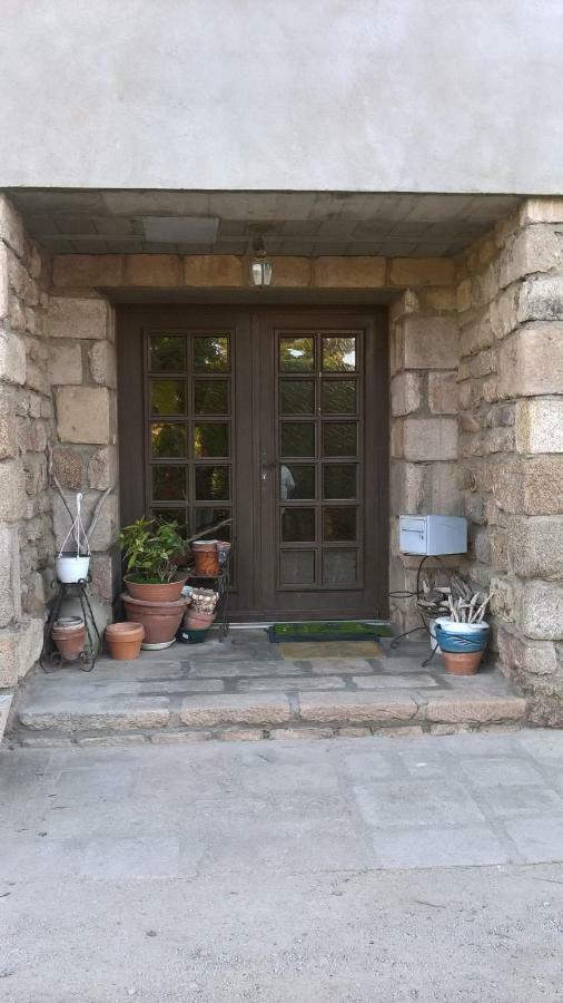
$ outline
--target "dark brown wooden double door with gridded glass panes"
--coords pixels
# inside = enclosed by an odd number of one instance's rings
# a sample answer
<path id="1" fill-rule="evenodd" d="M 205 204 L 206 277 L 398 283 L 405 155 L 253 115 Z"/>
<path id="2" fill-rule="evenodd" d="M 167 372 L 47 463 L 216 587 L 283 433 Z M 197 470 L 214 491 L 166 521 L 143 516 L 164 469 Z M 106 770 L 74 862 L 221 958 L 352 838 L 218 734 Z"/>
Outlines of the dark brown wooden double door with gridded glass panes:
<path id="1" fill-rule="evenodd" d="M 383 310 L 119 308 L 121 523 L 233 518 L 238 620 L 387 615 Z"/>

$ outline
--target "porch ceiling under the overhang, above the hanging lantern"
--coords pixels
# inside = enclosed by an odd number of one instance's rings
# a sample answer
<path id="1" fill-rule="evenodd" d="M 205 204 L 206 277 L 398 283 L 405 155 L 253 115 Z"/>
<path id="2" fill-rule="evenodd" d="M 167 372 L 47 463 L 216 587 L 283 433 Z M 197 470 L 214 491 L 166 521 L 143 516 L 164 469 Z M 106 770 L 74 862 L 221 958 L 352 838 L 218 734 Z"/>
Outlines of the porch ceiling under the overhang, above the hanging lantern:
<path id="1" fill-rule="evenodd" d="M 269 254 L 450 257 L 491 230 L 515 195 L 8 188 L 53 254 Z M 169 217 L 169 226 L 156 221 Z M 167 233 L 168 241 L 151 240 Z M 194 238 L 179 242 L 178 233 Z M 216 234 L 209 238 L 209 234 Z"/>

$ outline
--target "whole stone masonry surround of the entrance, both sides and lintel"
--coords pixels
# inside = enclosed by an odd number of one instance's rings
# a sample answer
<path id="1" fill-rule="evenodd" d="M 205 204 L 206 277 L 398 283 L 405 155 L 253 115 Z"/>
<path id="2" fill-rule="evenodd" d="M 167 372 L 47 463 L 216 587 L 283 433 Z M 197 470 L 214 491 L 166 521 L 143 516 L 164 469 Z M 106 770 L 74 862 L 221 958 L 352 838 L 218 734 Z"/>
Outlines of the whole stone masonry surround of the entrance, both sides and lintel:
<path id="1" fill-rule="evenodd" d="M 446 564 L 494 588 L 495 652 L 503 671 L 534 695 L 532 713 L 540 721 L 559 720 L 563 679 L 562 206 L 563 201 L 529 199 L 457 262 L 285 257 L 276 259 L 274 269 L 277 288 L 379 290 L 392 300 L 391 587 L 413 590 L 418 565 L 398 554 L 401 512 L 466 514 L 470 553 Z M 4 408 L 7 417 L 19 419 L 19 439 L 13 445 L 8 422 L 2 462 L 9 474 L 4 484 L 17 486 L 27 475 L 33 499 L 26 518 L 13 500 L 17 488 L 2 500 L 11 567 L 18 564 L 13 524 L 21 534 L 29 522 L 38 533 L 33 546 L 29 533 L 21 544 L 23 584 L 14 592 L 23 596 L 23 607 L 20 614 L 8 603 L 10 630 L 22 615 L 36 614 L 38 621 L 38 569 L 52 557 L 45 490 L 49 436 L 67 500 L 83 493 L 87 522 L 108 493 L 91 541 L 93 588 L 108 606 L 118 583 L 115 330 L 103 291 L 200 289 L 204 294 L 240 289 L 249 280 L 245 259 L 231 255 L 58 255 L 47 303 L 33 291 L 39 256 L 23 236 L 19 250 L 14 246 L 21 227 L 11 210 L 4 210 L 6 220 L 12 222 L 2 224 L 2 253 L 10 252 L 23 271 L 12 265 L 11 292 L 8 279 L 3 286 L 12 304 L 2 335 Z M 21 293 L 27 288 L 21 276 L 30 271 L 36 303 L 13 288 L 19 283 Z M 48 526 L 37 522 L 41 505 Z M 58 497 L 53 523 L 60 545 L 69 520 Z M 394 601 L 392 613 L 401 629 L 418 622 L 412 602 Z"/>

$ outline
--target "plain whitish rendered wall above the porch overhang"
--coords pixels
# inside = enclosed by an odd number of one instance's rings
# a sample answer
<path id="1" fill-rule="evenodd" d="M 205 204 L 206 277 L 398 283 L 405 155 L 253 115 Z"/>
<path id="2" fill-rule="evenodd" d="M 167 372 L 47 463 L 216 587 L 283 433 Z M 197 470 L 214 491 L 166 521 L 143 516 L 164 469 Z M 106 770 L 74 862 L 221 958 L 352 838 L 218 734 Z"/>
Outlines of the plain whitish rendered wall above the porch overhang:
<path id="1" fill-rule="evenodd" d="M 562 0 L 0 0 L 0 186 L 563 191 Z"/>

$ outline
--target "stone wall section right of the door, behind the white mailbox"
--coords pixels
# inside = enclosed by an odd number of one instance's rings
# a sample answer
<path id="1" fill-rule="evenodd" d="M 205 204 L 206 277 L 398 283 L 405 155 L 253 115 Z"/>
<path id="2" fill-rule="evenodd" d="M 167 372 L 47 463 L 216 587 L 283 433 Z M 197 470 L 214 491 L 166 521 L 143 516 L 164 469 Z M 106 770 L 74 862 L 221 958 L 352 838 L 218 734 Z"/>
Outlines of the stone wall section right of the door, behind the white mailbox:
<path id="1" fill-rule="evenodd" d="M 429 269 L 421 262 L 404 280 L 408 289 L 391 308 L 392 593 L 414 591 L 419 565 L 418 557 L 399 554 L 398 514 L 461 514 L 454 263 L 443 260 Z M 426 562 L 434 581 L 444 578 L 444 565 L 457 567 L 460 558 Z M 413 598 L 392 595 L 391 613 L 398 630 L 421 625 Z"/>

